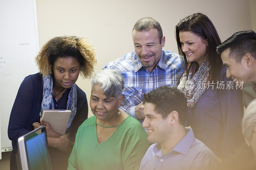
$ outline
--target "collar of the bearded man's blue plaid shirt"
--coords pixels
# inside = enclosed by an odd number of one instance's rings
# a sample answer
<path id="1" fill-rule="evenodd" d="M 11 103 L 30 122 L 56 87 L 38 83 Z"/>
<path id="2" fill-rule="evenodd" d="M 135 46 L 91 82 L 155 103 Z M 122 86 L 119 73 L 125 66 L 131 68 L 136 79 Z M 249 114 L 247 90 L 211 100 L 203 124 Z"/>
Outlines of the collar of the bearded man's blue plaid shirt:
<path id="1" fill-rule="evenodd" d="M 134 72 L 137 72 L 143 66 L 142 66 L 142 63 L 140 62 L 140 59 L 137 57 L 135 51 L 132 51 L 132 55 L 134 55 Z M 165 61 L 165 53 L 164 53 L 164 49 L 162 48 L 162 54 L 161 54 L 160 60 L 156 64 L 156 67 L 159 67 L 159 68 L 161 68 L 163 70 L 166 70 L 165 63 L 166 63 L 166 61 Z"/>

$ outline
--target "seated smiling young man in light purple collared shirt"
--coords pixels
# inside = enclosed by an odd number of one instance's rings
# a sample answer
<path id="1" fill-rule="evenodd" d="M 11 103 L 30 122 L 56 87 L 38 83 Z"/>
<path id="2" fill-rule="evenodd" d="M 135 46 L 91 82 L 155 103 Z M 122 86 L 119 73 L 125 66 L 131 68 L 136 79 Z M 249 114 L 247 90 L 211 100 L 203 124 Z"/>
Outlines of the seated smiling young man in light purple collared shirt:
<path id="1" fill-rule="evenodd" d="M 162 86 L 143 96 L 148 141 L 153 142 L 140 170 L 217 169 L 214 153 L 185 128 L 187 100 L 175 87 Z"/>

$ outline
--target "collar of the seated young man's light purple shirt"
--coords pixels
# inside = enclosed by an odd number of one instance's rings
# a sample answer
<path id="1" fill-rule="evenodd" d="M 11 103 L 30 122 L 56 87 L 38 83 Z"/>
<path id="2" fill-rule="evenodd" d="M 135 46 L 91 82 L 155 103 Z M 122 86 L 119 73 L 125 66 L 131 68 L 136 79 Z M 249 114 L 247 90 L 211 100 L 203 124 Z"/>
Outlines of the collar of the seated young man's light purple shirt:
<path id="1" fill-rule="evenodd" d="M 187 134 L 167 154 L 171 153 L 172 151 L 179 152 L 183 155 L 188 154 L 188 150 L 189 150 L 191 144 L 195 141 L 196 138 L 194 136 L 194 133 L 193 133 L 192 129 L 185 128 L 185 131 L 186 131 Z M 153 147 L 153 152 L 159 157 L 163 156 L 160 144 L 155 144 L 155 146 Z"/>

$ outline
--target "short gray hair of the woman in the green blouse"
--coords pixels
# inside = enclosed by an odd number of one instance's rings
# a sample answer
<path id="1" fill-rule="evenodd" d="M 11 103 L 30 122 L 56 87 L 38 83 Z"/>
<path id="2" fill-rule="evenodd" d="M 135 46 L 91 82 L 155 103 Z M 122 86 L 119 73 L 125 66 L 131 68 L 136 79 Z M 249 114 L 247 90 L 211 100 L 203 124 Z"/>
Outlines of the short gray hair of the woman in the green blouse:
<path id="1" fill-rule="evenodd" d="M 103 69 L 98 71 L 92 78 L 91 86 L 100 85 L 103 94 L 108 98 L 120 97 L 124 89 L 124 78 L 116 70 Z"/>

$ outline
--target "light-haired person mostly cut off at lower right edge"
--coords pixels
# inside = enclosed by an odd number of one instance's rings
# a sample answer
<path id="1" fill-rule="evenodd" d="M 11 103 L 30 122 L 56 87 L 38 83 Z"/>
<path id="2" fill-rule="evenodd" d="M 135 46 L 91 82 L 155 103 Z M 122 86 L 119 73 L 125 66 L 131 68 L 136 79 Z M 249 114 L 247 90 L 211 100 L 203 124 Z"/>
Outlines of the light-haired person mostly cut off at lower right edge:
<path id="1" fill-rule="evenodd" d="M 256 99 L 251 101 L 244 113 L 242 132 L 246 144 L 252 147 L 254 157 L 256 158 Z M 255 158 L 250 165 L 250 169 L 256 169 Z"/>

